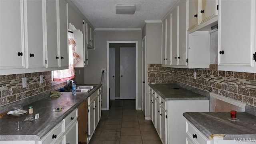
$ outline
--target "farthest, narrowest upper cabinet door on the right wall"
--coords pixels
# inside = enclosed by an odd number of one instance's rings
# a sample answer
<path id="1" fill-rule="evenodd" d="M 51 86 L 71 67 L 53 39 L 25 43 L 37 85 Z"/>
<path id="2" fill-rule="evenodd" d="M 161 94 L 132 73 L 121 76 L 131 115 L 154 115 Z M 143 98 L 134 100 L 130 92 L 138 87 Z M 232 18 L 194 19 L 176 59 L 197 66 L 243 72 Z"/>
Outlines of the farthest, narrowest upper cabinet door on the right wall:
<path id="1" fill-rule="evenodd" d="M 162 22 L 162 64 L 166 65 L 166 26 L 167 20 Z"/>

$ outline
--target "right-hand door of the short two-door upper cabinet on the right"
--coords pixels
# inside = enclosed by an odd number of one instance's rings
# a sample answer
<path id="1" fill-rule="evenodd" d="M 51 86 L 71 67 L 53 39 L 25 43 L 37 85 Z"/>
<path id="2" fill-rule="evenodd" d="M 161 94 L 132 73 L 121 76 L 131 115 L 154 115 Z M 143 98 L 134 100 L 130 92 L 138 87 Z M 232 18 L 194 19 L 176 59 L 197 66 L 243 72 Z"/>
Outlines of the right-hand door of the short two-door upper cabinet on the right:
<path id="1" fill-rule="evenodd" d="M 216 16 L 216 0 L 201 0 L 200 23 Z"/>

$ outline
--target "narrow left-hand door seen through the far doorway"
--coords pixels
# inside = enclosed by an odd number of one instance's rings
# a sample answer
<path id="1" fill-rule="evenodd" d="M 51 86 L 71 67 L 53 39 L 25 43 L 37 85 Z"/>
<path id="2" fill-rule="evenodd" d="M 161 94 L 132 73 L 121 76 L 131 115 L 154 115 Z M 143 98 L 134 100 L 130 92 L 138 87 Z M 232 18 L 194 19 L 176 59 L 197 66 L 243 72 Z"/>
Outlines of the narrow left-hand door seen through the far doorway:
<path id="1" fill-rule="evenodd" d="M 116 99 L 115 83 L 115 48 L 109 48 L 109 88 L 110 100 Z"/>

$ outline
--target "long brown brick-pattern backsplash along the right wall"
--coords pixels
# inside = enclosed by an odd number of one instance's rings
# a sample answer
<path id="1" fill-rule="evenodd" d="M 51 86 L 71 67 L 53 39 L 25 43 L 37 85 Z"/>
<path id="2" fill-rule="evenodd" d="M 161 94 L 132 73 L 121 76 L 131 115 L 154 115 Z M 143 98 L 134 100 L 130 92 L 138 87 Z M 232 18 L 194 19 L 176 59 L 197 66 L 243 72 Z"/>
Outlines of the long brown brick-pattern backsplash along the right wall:
<path id="1" fill-rule="evenodd" d="M 175 68 L 174 80 L 256 106 L 256 73 L 220 71 L 217 64 L 210 64 L 208 69 Z"/>

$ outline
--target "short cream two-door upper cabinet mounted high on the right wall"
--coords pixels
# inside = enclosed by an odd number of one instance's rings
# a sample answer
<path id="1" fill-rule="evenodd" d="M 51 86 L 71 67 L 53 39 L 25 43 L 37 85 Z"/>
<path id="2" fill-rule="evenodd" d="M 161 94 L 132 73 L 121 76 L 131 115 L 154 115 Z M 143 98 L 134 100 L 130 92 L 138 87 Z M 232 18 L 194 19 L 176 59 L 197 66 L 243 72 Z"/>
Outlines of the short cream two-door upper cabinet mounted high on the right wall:
<path id="1" fill-rule="evenodd" d="M 187 0 L 189 33 L 210 30 L 218 21 L 218 0 Z"/>

